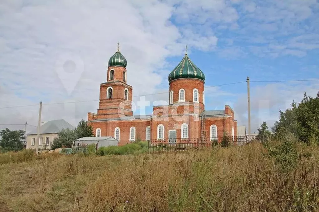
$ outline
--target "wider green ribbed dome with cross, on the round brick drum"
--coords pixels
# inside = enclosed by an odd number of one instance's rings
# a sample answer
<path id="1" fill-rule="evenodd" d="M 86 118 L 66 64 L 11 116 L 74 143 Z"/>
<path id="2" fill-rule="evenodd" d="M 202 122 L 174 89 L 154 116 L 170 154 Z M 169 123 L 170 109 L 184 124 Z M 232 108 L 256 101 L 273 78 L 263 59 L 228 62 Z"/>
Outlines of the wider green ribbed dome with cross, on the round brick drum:
<path id="1" fill-rule="evenodd" d="M 204 73 L 189 59 L 187 53 L 168 75 L 168 82 L 181 78 L 196 78 L 205 81 Z"/>

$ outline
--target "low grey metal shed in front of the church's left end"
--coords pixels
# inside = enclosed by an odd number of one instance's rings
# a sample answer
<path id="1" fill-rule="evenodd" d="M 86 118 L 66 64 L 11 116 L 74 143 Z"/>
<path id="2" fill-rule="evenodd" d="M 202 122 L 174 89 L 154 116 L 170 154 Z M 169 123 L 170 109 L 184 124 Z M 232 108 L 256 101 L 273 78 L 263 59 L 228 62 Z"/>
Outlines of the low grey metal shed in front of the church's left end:
<path id="1" fill-rule="evenodd" d="M 117 146 L 118 141 L 112 136 L 84 137 L 76 139 L 74 145 L 77 144 L 97 144 L 97 148 L 100 148 L 101 146 Z"/>

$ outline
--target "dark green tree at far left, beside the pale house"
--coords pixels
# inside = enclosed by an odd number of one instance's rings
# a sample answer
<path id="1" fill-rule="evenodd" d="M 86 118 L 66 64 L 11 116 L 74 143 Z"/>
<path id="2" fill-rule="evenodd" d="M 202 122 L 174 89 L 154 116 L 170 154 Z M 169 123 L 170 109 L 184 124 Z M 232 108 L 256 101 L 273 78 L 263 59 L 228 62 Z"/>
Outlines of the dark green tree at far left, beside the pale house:
<path id="1" fill-rule="evenodd" d="M 26 139 L 25 131 L 11 131 L 8 128 L 0 131 L 0 149 L 4 151 L 19 151 L 23 149 L 23 142 Z"/>

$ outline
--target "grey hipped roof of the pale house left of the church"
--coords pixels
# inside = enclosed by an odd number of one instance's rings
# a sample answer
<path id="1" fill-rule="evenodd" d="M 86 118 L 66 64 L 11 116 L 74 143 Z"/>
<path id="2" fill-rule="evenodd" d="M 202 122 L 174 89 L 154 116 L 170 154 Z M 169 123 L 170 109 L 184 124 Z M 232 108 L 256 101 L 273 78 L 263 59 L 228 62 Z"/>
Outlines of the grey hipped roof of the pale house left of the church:
<path id="1" fill-rule="evenodd" d="M 64 121 L 64 119 L 52 120 L 40 126 L 40 134 L 58 133 L 62 129 L 66 128 L 75 129 L 75 127 Z M 28 135 L 34 134 L 38 134 L 38 128 L 28 133 Z"/>

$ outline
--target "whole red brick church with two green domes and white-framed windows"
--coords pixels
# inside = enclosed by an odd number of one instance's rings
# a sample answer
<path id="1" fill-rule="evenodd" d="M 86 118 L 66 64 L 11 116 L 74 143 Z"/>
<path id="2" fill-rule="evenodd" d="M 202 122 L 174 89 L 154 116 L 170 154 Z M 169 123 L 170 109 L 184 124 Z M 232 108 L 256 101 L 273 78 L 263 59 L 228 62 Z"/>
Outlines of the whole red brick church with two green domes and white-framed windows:
<path id="1" fill-rule="evenodd" d="M 220 141 L 224 133 L 236 136 L 237 121 L 230 106 L 205 110 L 205 76 L 187 53 L 168 75 L 169 103 L 154 106 L 152 115 L 133 115 L 133 87 L 126 83 L 126 66 L 118 49 L 108 61 L 107 81 L 100 84 L 97 113 L 88 113 L 95 136 L 112 136 L 119 145 L 136 139 L 185 143 Z"/>

